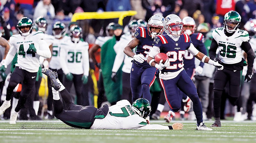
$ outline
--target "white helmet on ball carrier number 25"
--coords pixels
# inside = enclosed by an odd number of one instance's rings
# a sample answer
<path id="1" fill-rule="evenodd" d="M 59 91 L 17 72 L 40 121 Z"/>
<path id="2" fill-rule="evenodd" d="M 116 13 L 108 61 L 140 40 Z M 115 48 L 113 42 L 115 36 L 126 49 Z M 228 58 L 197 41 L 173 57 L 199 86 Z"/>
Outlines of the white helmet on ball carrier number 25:
<path id="1" fill-rule="evenodd" d="M 183 23 L 179 16 L 169 14 L 164 18 L 164 32 L 166 32 L 166 34 L 180 36 L 183 29 Z"/>

